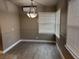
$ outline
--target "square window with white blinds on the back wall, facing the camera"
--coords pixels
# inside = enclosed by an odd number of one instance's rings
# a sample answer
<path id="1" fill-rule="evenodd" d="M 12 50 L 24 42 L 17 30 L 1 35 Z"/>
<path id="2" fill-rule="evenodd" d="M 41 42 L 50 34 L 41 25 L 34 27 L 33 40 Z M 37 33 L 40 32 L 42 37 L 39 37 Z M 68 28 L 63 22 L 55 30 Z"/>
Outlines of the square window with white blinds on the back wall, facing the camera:
<path id="1" fill-rule="evenodd" d="M 39 12 L 39 33 L 55 33 L 55 13 Z"/>

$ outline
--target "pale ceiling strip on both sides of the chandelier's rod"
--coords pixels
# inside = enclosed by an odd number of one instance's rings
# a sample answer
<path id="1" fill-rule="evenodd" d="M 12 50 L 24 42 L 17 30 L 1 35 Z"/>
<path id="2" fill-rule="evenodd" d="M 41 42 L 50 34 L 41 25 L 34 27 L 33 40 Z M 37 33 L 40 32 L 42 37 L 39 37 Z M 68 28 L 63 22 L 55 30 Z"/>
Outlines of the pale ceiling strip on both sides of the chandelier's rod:
<path id="1" fill-rule="evenodd" d="M 30 4 L 30 0 L 12 0 L 13 2 L 15 2 L 18 5 L 29 5 Z M 34 4 L 41 4 L 41 5 L 45 5 L 45 6 L 52 6 L 52 5 L 56 5 L 58 0 L 34 0 Z"/>

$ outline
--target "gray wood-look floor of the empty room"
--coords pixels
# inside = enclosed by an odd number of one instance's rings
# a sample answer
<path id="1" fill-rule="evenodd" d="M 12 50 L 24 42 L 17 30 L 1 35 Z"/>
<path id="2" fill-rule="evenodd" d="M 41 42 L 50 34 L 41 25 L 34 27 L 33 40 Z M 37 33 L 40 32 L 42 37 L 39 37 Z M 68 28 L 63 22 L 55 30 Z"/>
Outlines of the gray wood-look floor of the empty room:
<path id="1" fill-rule="evenodd" d="M 62 59 L 55 44 L 20 43 L 0 59 Z"/>

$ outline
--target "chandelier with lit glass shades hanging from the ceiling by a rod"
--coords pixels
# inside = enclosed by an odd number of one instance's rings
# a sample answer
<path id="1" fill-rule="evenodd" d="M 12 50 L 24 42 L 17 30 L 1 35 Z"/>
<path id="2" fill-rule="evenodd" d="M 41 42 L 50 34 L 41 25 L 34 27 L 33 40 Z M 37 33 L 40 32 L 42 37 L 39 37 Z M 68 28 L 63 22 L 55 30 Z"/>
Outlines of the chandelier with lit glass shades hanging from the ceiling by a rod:
<path id="1" fill-rule="evenodd" d="M 29 18 L 35 18 L 37 17 L 37 6 L 33 5 L 33 0 L 31 0 L 31 5 L 30 6 L 24 6 L 23 11 L 26 12 L 26 15 Z"/>

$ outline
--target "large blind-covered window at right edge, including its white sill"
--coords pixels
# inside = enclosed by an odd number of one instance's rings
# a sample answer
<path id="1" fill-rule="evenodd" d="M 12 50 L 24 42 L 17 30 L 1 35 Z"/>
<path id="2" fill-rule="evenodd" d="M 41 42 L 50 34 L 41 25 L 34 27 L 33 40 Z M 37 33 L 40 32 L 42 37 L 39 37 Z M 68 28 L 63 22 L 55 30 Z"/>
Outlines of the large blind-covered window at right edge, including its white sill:
<path id="1" fill-rule="evenodd" d="M 79 59 L 79 0 L 69 2 L 66 48 Z"/>

